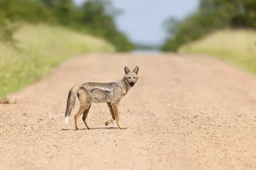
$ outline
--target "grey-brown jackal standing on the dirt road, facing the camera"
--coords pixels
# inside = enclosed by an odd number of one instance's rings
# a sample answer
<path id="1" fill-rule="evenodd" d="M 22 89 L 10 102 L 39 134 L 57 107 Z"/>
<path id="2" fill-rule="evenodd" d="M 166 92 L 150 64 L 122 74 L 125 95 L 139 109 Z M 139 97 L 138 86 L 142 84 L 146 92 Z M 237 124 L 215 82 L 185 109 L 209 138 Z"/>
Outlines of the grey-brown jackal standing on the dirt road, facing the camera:
<path id="1" fill-rule="evenodd" d="M 122 127 L 120 125 L 117 105 L 139 79 L 138 71 L 138 66 L 135 67 L 133 71 L 130 71 L 125 66 L 125 76 L 116 82 L 85 82 L 83 84 L 73 86 L 70 89 L 67 97 L 67 108 L 65 114 L 66 125 L 68 121 L 68 116 L 70 116 L 70 113 L 75 106 L 77 96 L 80 101 L 79 111 L 74 116 L 75 126 L 77 130 L 79 130 L 79 127 L 77 126 L 77 119 L 79 118 L 79 116 L 81 116 L 81 114 L 83 114 L 82 119 L 85 126 L 88 129 L 93 129 L 93 127 L 90 127 L 86 122 L 92 102 L 106 102 L 108 104 L 108 108 L 112 115 L 112 118 L 105 123 L 105 126 L 116 120 L 116 124 L 118 125 L 119 129 L 126 129 L 126 127 Z"/>

